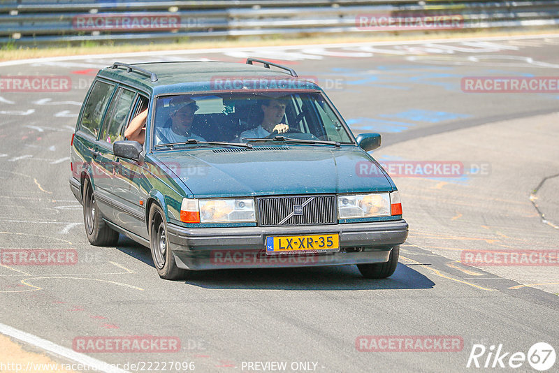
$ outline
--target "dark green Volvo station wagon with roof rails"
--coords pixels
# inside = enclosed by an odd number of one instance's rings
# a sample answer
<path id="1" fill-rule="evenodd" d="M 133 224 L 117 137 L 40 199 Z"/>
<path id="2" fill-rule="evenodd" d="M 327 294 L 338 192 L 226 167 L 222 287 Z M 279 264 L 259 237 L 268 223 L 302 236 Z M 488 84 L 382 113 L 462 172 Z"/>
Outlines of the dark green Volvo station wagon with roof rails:
<path id="1" fill-rule="evenodd" d="M 349 264 L 384 278 L 408 226 L 379 146 L 270 61 L 116 62 L 82 105 L 70 186 L 89 242 L 126 235 L 165 279 Z"/>

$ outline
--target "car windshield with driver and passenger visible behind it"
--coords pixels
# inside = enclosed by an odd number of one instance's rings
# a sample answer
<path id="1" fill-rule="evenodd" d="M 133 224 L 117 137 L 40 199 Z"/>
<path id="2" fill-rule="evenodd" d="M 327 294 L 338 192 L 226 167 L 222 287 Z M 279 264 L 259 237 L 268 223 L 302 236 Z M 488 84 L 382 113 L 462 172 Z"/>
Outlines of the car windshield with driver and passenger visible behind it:
<path id="1" fill-rule="evenodd" d="M 353 144 L 351 134 L 317 92 L 175 95 L 157 99 L 154 145 L 258 142 Z M 307 140 L 315 140 L 311 142 Z M 206 142 L 204 144 L 204 142 Z M 161 148 L 161 147 L 160 147 Z"/>

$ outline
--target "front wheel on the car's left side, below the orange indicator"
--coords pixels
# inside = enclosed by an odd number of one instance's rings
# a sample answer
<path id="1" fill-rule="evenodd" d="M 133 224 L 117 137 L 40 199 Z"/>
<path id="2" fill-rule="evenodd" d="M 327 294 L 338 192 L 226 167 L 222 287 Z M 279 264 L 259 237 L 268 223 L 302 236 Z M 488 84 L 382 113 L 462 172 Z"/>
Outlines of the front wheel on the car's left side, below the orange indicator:
<path id="1" fill-rule="evenodd" d="M 165 214 L 156 203 L 150 208 L 150 249 L 159 277 L 170 280 L 190 277 L 192 271 L 177 267 L 175 256 L 168 247 Z"/>

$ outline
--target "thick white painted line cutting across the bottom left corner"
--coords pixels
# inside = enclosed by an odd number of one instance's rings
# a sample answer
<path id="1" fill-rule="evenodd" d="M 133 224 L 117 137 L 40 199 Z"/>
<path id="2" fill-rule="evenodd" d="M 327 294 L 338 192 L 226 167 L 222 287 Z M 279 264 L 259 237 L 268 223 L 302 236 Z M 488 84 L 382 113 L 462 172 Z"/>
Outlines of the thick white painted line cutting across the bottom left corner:
<path id="1" fill-rule="evenodd" d="M 62 356 L 63 358 L 70 359 L 76 363 L 83 364 L 92 368 L 92 370 L 96 372 L 128 373 L 128 371 L 119 369 L 114 365 L 89 357 L 83 353 L 75 352 L 64 346 L 50 342 L 47 339 L 37 337 L 36 335 L 29 334 L 28 332 L 23 332 L 22 330 L 12 328 L 11 326 L 4 325 L 3 323 L 0 323 L 0 333 L 18 339 L 27 344 L 31 344 L 45 351 L 49 351 L 50 353 L 54 353 L 55 355 Z"/>

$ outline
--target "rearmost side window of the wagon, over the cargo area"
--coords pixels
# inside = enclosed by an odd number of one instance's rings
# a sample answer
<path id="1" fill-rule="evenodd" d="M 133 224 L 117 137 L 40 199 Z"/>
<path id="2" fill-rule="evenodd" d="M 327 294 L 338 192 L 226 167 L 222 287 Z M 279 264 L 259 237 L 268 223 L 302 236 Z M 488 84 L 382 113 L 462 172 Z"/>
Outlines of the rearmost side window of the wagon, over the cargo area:
<path id="1" fill-rule="evenodd" d="M 107 108 L 112 89 L 114 88 L 115 86 L 105 82 L 97 81 L 94 83 L 92 92 L 89 94 L 83 110 L 82 123 L 80 124 L 81 131 L 97 138 L 103 113 Z"/>

